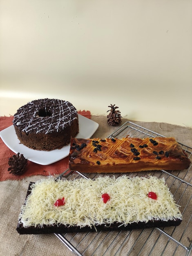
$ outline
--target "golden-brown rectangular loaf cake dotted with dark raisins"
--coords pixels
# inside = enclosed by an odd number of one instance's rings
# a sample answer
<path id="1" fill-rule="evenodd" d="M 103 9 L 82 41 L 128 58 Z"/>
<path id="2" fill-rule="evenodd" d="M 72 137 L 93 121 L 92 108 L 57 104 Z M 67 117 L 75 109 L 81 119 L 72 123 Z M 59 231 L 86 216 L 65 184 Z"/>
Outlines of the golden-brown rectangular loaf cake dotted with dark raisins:
<path id="1" fill-rule="evenodd" d="M 173 137 L 71 139 L 69 168 L 84 173 L 182 170 L 190 159 Z"/>

